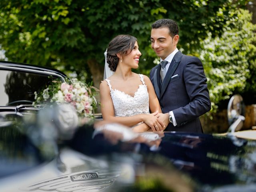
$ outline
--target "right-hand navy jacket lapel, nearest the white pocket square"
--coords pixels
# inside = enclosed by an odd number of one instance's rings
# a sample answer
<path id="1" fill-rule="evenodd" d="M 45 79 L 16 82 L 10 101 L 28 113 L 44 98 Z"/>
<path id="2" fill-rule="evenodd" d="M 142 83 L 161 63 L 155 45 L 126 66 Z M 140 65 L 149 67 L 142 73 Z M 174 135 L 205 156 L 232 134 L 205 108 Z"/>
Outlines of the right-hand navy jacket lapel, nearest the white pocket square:
<path id="1" fill-rule="evenodd" d="M 164 95 L 164 92 L 171 80 L 172 75 L 174 74 L 176 68 L 178 67 L 180 60 L 182 58 L 182 53 L 180 51 L 178 51 L 175 55 L 174 58 L 172 59 L 172 62 L 170 63 L 170 66 L 168 68 L 168 71 L 166 73 L 166 76 L 164 78 L 164 81 L 161 84 L 161 91 L 160 91 L 160 98 Z M 160 72 L 159 72 L 160 74 Z M 160 77 L 160 75 L 159 75 Z"/>

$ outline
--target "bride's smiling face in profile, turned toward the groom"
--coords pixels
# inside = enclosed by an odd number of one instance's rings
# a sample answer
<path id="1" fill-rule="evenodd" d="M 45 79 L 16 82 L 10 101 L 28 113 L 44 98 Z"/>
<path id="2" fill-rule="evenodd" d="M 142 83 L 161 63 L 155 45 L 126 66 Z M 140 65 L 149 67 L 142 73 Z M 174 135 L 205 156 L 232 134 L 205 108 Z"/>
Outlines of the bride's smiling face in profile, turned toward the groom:
<path id="1" fill-rule="evenodd" d="M 134 48 L 123 56 L 123 62 L 129 65 L 131 68 L 136 69 L 139 66 L 140 56 L 141 52 L 139 51 L 138 43 L 135 42 Z"/>

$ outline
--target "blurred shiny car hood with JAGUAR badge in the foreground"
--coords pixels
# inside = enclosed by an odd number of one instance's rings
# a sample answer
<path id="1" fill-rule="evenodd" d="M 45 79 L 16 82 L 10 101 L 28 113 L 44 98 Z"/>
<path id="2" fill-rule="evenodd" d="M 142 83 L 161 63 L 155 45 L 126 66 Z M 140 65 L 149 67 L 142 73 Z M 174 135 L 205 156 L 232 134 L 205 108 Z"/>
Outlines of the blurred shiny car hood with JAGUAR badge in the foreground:
<path id="1" fill-rule="evenodd" d="M 255 187 L 254 140 L 181 132 L 133 134 L 124 126 L 106 125 L 110 128 L 80 126 L 66 140 L 42 139 L 30 124 L 2 126 L 1 191 L 236 191 L 240 187 L 246 191 Z"/>

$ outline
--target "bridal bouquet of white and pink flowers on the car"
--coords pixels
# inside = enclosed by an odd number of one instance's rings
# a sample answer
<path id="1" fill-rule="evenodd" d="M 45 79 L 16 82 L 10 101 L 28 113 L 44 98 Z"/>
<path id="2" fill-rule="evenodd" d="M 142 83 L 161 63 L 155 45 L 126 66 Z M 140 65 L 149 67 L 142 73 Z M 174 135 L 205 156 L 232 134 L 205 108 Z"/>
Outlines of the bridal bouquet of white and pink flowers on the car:
<path id="1" fill-rule="evenodd" d="M 70 103 L 76 109 L 78 116 L 93 118 L 96 109 L 95 89 L 84 82 L 72 79 L 72 84 L 53 82 L 40 93 L 34 92 L 34 106 L 56 102 Z"/>

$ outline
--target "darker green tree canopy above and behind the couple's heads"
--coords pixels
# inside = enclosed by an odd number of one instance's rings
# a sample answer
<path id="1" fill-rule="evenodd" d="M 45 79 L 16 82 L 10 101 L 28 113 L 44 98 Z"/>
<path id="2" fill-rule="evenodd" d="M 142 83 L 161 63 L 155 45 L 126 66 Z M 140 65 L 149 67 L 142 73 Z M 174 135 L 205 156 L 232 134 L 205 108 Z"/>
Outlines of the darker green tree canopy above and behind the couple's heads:
<path id="1" fill-rule="evenodd" d="M 76 72 L 90 81 L 88 61 L 103 66 L 111 38 L 132 34 L 144 59 L 139 70 L 148 74 L 156 57 L 150 48 L 155 20 L 178 22 L 179 45 L 186 52 L 208 31 L 220 34 L 234 6 L 232 0 L 2 0 L 0 44 L 9 60 Z"/>

